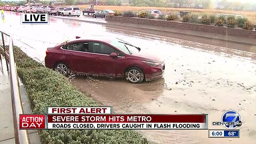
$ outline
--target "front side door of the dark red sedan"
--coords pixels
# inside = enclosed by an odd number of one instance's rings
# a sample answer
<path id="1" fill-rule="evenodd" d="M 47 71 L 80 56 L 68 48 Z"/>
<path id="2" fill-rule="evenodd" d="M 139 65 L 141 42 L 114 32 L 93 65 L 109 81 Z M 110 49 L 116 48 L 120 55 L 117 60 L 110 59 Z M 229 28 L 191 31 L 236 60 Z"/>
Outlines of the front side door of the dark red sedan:
<path id="1" fill-rule="evenodd" d="M 120 52 L 102 42 L 89 42 L 92 53 L 92 73 L 101 76 L 116 77 L 123 73 L 121 70 L 122 57 L 111 58 L 110 53 Z"/>

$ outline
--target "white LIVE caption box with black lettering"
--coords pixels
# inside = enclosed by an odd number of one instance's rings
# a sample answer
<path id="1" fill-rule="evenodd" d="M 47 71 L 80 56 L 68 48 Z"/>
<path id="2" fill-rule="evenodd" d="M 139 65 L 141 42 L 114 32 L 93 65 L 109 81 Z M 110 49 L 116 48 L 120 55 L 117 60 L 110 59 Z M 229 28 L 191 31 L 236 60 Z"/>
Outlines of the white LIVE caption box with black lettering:
<path id="1" fill-rule="evenodd" d="M 47 13 L 22 13 L 21 23 L 49 24 Z"/>

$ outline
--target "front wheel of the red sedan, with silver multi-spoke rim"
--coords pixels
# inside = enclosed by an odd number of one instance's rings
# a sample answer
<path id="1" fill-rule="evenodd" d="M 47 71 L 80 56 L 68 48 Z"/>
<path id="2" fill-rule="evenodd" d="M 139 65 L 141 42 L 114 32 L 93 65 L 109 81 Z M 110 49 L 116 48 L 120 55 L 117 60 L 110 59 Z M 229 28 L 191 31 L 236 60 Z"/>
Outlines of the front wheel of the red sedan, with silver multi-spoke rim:
<path id="1" fill-rule="evenodd" d="M 144 77 L 143 71 L 138 67 L 131 67 L 125 71 L 125 78 L 130 83 L 141 83 Z"/>

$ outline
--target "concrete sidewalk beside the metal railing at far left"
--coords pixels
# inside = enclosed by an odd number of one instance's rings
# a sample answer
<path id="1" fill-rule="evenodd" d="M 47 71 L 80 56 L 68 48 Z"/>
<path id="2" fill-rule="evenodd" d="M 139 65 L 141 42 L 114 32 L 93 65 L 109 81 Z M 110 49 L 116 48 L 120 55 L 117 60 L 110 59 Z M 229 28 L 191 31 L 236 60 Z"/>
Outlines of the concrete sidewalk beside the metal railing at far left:
<path id="1" fill-rule="evenodd" d="M 22 83 L 20 83 L 20 94 L 24 113 L 31 114 L 32 111 L 30 109 L 30 103 L 26 95 L 26 89 Z M 0 122 L 0 144 L 15 143 L 10 79 L 3 55 L 0 61 Z M 39 135 L 37 134 L 37 130 L 29 130 L 28 133 L 31 143 L 41 143 Z"/>

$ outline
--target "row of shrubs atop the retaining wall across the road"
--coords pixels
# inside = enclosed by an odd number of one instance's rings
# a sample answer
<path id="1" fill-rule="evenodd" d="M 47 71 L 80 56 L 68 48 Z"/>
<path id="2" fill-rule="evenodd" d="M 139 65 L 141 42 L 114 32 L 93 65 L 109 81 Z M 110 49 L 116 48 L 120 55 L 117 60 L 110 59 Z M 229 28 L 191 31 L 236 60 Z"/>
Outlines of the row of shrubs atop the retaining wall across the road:
<path id="1" fill-rule="evenodd" d="M 139 14 L 134 14 L 132 11 L 125 11 L 125 12 L 116 12 L 116 16 L 123 16 L 123 17 L 139 17 L 139 18 L 148 18 L 148 19 L 155 19 L 153 14 L 147 14 L 146 12 L 141 12 Z M 202 25 L 214 25 L 219 27 L 229 27 L 234 28 L 236 25 L 238 27 L 241 27 L 243 29 L 253 29 L 253 24 L 251 21 L 249 21 L 247 18 L 238 18 L 236 19 L 234 16 L 230 16 L 228 18 L 225 18 L 223 16 L 217 17 L 214 14 L 207 15 L 204 14 L 198 15 L 198 14 L 186 14 L 182 18 L 179 18 L 178 13 L 172 12 L 168 15 L 159 15 L 157 18 L 159 20 L 179 20 L 181 19 L 181 22 L 189 22 L 189 23 L 199 23 Z"/>

